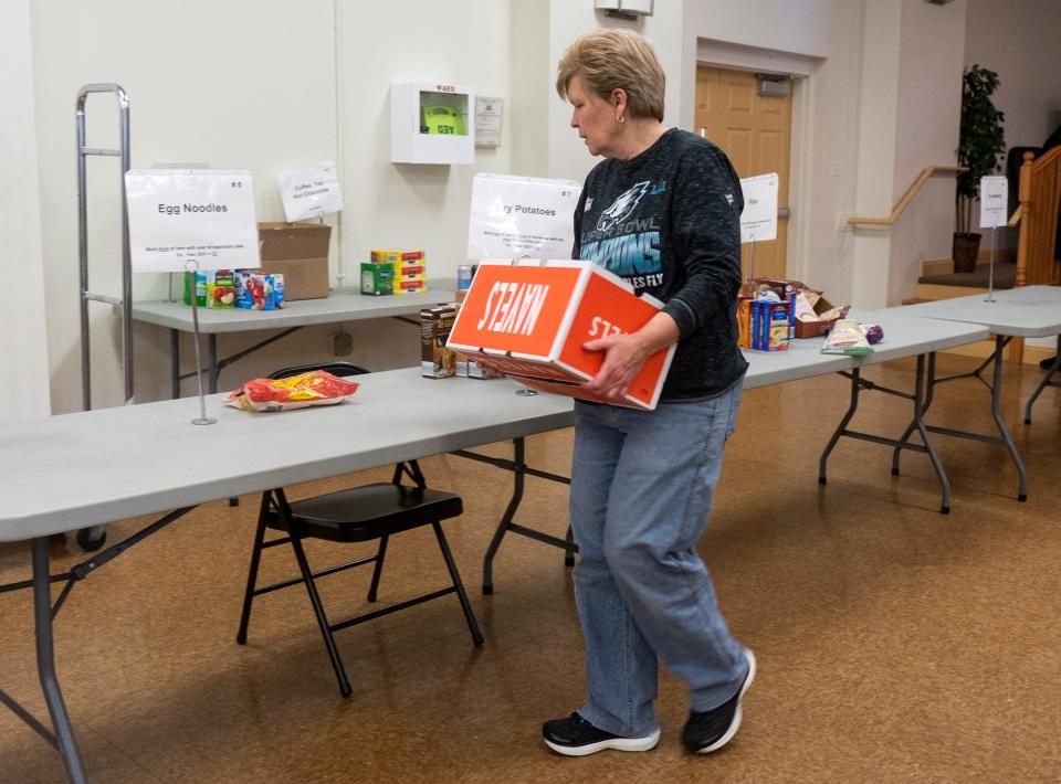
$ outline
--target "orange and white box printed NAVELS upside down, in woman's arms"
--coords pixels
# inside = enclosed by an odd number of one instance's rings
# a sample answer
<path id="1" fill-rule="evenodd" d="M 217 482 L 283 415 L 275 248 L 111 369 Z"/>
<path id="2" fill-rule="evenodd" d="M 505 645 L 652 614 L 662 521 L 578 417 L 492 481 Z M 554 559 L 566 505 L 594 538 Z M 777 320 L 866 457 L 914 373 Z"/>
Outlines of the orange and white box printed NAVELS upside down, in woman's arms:
<path id="1" fill-rule="evenodd" d="M 592 262 L 486 259 L 479 265 L 447 346 L 547 392 L 600 400 L 584 381 L 603 362 L 582 343 L 634 332 L 663 304 Z M 652 354 L 630 384 L 626 405 L 652 410 L 674 347 Z"/>

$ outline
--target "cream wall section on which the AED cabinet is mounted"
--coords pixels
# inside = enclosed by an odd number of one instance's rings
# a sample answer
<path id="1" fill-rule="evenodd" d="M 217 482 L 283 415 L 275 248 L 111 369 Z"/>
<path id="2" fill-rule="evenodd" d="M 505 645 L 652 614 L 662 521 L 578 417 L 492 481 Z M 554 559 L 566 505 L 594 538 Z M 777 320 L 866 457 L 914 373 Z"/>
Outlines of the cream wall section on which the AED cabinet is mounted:
<path id="1" fill-rule="evenodd" d="M 505 97 L 507 114 L 508 3 L 306 0 L 294 8 L 260 0 L 32 6 L 32 28 L 23 23 L 20 34 L 29 39 L 32 32 L 34 54 L 53 412 L 81 405 L 73 108 L 85 83 L 117 82 L 128 92 L 133 166 L 180 161 L 250 169 L 259 220 L 283 219 L 279 171 L 340 157 L 346 210 L 328 219 L 342 229 L 342 247 L 334 244 L 332 253 L 335 282 L 356 269 L 369 248 L 393 245 L 422 247 L 433 275 L 455 276 L 465 255 L 471 179 L 475 170 L 508 170 L 511 124 L 502 147 L 480 151 L 475 167 L 395 166 L 389 85 L 469 84 Z M 113 146 L 113 102 L 96 97 L 88 108 L 90 144 Z M 116 172 L 114 159 L 90 161 L 92 288 L 113 296 L 120 292 Z M 166 276 L 137 275 L 134 283 L 136 298 L 168 292 Z M 419 361 L 413 326 L 374 320 L 346 328 L 355 359 L 367 367 Z M 241 360 L 222 373 L 222 388 L 280 365 L 329 358 L 336 329 L 306 328 Z M 106 306 L 92 307 L 92 332 L 94 405 L 118 405 L 118 322 Z M 265 337 L 222 336 L 221 354 Z M 137 401 L 168 396 L 168 330 L 138 326 L 134 343 Z M 182 353 L 190 370 L 187 336 Z"/>

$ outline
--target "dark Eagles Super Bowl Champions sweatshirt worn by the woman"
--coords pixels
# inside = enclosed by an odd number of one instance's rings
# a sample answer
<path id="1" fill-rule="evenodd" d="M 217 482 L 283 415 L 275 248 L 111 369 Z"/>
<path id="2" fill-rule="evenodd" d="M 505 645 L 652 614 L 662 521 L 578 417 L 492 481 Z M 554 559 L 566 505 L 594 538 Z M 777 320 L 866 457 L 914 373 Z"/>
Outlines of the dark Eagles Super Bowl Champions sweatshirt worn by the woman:
<path id="1" fill-rule="evenodd" d="M 747 369 L 736 321 L 743 209 L 725 153 L 677 128 L 635 158 L 601 161 L 586 178 L 572 257 L 662 300 L 677 324 L 661 402 L 712 398 Z"/>

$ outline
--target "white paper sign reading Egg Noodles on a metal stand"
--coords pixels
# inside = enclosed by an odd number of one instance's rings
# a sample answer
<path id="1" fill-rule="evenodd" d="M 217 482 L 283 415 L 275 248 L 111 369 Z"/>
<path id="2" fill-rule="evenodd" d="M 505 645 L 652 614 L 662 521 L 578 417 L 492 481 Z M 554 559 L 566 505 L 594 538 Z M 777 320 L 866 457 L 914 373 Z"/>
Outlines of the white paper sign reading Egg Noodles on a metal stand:
<path id="1" fill-rule="evenodd" d="M 133 272 L 261 266 L 249 171 L 130 169 L 125 192 Z"/>

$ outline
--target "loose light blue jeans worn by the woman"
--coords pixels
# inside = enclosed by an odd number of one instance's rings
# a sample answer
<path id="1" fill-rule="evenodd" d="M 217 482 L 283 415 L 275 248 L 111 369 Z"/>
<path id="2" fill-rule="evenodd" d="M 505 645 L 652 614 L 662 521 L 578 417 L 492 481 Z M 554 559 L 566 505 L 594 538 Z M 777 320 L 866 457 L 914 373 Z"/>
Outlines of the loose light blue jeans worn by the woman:
<path id="1" fill-rule="evenodd" d="M 742 386 L 651 412 L 575 403 L 570 513 L 589 687 L 578 712 L 606 732 L 659 728 L 658 659 L 689 684 L 694 711 L 728 700 L 747 674 L 695 549 Z"/>

